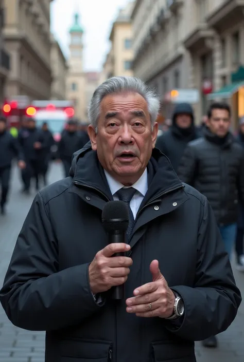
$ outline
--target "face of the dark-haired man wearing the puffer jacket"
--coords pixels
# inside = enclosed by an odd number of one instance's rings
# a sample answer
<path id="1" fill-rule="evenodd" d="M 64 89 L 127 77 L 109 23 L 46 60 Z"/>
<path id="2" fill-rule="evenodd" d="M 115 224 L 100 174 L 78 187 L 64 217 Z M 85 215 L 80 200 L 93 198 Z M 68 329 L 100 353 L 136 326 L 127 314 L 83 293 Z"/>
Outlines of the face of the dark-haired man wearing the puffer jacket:
<path id="1" fill-rule="evenodd" d="M 213 109 L 212 115 L 207 120 L 207 126 L 218 137 L 225 137 L 231 125 L 231 118 L 226 109 Z"/>

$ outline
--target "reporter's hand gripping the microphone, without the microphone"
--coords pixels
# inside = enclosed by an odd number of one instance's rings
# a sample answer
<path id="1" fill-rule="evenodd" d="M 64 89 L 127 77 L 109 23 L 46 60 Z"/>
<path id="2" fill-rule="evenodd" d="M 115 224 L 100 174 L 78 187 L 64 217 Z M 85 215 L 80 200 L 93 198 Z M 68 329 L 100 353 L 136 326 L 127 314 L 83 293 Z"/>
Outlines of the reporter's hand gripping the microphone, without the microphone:
<path id="1" fill-rule="evenodd" d="M 89 281 L 93 294 L 106 292 L 115 285 L 125 283 L 130 273 L 129 266 L 132 265 L 132 259 L 126 256 L 113 256 L 113 254 L 128 250 L 130 250 L 130 245 L 114 243 L 104 247 L 95 255 L 89 265 Z"/>

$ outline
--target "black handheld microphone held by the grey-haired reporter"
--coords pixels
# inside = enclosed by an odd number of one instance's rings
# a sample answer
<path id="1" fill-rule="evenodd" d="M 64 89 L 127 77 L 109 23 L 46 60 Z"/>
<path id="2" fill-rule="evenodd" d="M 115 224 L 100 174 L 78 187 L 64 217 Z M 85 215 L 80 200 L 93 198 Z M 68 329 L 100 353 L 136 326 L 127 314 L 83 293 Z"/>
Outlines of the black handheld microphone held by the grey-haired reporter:
<path id="1" fill-rule="evenodd" d="M 109 201 L 102 211 L 102 224 L 111 243 L 125 243 L 126 231 L 129 225 L 129 211 L 124 201 Z M 115 253 L 114 256 L 125 256 L 125 253 Z M 124 299 L 125 285 L 111 288 L 112 299 Z"/>

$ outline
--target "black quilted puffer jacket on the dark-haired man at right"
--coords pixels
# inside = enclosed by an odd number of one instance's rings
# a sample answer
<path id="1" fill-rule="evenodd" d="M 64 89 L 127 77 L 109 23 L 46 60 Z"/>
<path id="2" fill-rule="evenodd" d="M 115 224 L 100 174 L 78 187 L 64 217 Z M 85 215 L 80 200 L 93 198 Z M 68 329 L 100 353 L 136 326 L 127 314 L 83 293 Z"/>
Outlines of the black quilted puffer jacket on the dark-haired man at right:
<path id="1" fill-rule="evenodd" d="M 219 225 L 237 221 L 238 201 L 244 201 L 244 153 L 231 134 L 221 140 L 206 128 L 204 138 L 186 148 L 178 176 L 206 196 Z"/>

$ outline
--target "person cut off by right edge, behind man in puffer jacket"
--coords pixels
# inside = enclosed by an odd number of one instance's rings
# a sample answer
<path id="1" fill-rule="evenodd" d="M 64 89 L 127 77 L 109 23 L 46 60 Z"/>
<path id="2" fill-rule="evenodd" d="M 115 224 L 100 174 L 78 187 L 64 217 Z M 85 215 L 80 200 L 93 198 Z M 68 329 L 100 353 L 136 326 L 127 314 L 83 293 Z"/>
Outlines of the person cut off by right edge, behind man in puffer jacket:
<path id="1" fill-rule="evenodd" d="M 239 121 L 239 133 L 237 135 L 237 142 L 241 145 L 242 149 L 244 148 L 244 117 L 240 118 Z M 237 221 L 237 232 L 235 240 L 235 250 L 236 250 L 236 269 L 240 272 L 244 272 L 244 247 L 243 247 L 243 237 L 244 237 L 244 205 L 239 205 L 239 217 Z"/>

